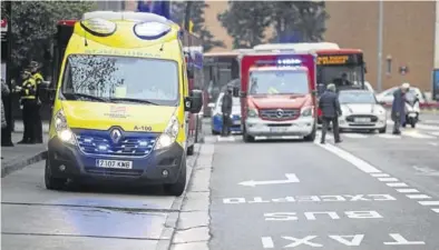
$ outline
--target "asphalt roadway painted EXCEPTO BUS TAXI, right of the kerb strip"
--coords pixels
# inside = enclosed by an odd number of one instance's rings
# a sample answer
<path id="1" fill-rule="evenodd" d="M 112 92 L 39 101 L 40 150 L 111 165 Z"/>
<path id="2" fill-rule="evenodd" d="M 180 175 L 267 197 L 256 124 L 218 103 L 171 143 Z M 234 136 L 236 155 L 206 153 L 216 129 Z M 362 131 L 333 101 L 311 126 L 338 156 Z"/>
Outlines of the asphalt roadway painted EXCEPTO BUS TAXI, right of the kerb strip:
<path id="1" fill-rule="evenodd" d="M 338 146 L 206 138 L 209 249 L 439 249 L 439 124 L 391 128 Z"/>

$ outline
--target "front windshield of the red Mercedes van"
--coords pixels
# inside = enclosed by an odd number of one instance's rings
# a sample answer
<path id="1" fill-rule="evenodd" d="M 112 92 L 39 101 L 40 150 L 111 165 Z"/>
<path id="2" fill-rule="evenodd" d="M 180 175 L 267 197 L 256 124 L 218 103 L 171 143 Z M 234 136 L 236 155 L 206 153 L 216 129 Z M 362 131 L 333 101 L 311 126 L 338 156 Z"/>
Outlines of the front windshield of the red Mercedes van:
<path id="1" fill-rule="evenodd" d="M 309 93 L 305 71 L 255 71 L 250 76 L 250 94 Z"/>

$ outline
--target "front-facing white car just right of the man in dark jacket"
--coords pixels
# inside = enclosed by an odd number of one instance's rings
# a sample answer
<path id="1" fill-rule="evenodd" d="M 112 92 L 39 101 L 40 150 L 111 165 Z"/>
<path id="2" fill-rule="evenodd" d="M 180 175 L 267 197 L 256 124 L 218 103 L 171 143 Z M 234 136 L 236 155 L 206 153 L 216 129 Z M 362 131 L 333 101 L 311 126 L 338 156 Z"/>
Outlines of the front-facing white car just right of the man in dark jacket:
<path id="1" fill-rule="evenodd" d="M 340 131 L 378 130 L 386 133 L 387 111 L 369 90 L 342 90 L 339 92 L 342 116 L 339 117 Z"/>

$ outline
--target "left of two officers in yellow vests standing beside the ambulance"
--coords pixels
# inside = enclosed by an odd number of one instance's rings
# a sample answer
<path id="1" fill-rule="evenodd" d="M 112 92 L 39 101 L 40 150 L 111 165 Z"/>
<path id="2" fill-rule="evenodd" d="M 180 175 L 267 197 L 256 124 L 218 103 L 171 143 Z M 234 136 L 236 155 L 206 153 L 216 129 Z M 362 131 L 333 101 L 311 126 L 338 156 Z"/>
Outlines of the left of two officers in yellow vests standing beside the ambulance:
<path id="1" fill-rule="evenodd" d="M 17 90 L 21 94 L 22 119 L 23 119 L 23 139 L 18 143 L 31 144 L 36 143 L 36 112 L 37 104 L 37 82 L 33 80 L 30 69 L 23 70 L 21 74 L 23 82 Z"/>

